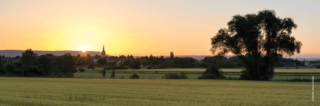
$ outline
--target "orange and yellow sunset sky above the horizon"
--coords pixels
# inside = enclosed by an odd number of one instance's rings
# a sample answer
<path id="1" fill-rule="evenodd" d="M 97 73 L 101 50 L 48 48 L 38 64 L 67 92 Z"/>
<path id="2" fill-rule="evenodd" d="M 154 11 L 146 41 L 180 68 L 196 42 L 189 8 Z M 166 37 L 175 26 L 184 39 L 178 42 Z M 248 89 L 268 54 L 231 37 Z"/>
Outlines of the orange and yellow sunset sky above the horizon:
<path id="1" fill-rule="evenodd" d="M 263 9 L 294 19 L 300 54 L 320 54 L 320 0 L 1 0 L 0 50 L 212 55 L 232 16 Z"/>

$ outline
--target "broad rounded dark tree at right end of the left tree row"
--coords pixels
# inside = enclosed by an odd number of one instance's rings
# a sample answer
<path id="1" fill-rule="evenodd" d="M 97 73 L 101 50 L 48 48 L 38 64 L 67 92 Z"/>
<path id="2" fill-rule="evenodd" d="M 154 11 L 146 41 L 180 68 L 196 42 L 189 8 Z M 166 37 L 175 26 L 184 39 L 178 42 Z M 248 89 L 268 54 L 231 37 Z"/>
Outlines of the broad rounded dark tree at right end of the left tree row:
<path id="1" fill-rule="evenodd" d="M 76 73 L 76 58 L 66 53 L 61 56 L 53 57 L 51 61 L 52 75 L 57 77 L 73 77 Z"/>

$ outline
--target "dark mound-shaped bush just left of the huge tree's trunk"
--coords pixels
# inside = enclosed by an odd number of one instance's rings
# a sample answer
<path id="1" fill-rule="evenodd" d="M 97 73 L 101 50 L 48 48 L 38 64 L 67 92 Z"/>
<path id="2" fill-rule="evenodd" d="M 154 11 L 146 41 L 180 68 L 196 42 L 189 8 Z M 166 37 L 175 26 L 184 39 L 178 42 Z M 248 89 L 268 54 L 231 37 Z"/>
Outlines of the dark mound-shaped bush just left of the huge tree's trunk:
<path id="1" fill-rule="evenodd" d="M 223 75 L 221 69 L 215 64 L 211 64 L 211 66 L 207 67 L 205 72 L 201 74 L 198 79 L 225 79 L 226 77 Z"/>

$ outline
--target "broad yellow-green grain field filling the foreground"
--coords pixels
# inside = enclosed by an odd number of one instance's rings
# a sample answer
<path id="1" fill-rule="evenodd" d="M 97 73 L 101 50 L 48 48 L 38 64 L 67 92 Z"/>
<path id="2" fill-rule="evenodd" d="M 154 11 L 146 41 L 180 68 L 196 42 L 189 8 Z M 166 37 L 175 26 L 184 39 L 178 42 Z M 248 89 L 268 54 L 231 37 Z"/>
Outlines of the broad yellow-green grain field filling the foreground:
<path id="1" fill-rule="evenodd" d="M 1 106 L 317 106 L 320 104 L 319 82 L 315 82 L 315 99 L 312 101 L 311 82 L 8 77 L 0 77 L 0 81 Z M 78 95 L 82 99 L 79 100 Z"/>

